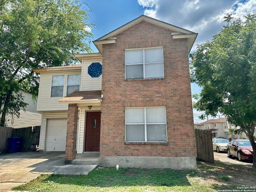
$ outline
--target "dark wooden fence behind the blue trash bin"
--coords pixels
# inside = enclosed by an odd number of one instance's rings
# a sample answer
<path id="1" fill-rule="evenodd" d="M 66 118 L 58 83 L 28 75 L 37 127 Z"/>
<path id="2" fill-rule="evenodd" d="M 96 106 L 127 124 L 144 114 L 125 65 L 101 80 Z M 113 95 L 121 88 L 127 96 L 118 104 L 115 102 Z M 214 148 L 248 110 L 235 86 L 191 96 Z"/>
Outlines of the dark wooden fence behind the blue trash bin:
<path id="1" fill-rule="evenodd" d="M 40 129 L 41 126 L 17 129 L 0 127 L 0 151 L 7 152 L 7 139 L 10 137 L 22 137 L 22 151 L 35 151 L 36 145 L 39 145 Z"/>

